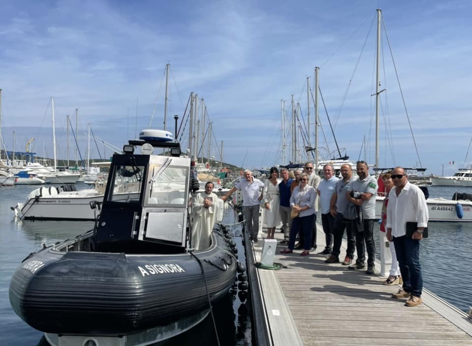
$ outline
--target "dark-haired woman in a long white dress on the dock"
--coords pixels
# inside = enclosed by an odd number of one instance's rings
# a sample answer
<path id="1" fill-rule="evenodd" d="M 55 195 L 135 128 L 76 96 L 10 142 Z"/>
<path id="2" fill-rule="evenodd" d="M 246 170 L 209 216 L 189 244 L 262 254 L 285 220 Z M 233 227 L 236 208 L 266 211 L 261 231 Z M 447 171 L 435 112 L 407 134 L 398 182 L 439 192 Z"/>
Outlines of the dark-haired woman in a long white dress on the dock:
<path id="1" fill-rule="evenodd" d="M 280 192 L 279 171 L 276 167 L 270 169 L 270 177 L 264 182 L 262 203 L 264 207 L 264 221 L 267 225 L 267 239 L 273 239 L 275 228 L 280 224 Z"/>

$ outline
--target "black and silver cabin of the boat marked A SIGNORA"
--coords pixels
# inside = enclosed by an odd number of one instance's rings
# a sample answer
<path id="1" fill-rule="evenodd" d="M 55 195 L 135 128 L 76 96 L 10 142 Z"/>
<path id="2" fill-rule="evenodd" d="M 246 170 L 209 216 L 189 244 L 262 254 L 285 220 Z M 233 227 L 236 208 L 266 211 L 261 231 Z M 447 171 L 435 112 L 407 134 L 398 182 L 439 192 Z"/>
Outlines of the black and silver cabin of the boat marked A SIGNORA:
<path id="1" fill-rule="evenodd" d="M 94 251 L 186 252 L 188 201 L 195 179 L 191 160 L 179 157 L 176 142 L 147 139 L 129 143 L 124 154 L 112 159 L 94 230 Z M 140 154 L 134 152 L 135 147 L 141 147 Z M 153 155 L 156 148 L 164 148 L 171 156 Z"/>

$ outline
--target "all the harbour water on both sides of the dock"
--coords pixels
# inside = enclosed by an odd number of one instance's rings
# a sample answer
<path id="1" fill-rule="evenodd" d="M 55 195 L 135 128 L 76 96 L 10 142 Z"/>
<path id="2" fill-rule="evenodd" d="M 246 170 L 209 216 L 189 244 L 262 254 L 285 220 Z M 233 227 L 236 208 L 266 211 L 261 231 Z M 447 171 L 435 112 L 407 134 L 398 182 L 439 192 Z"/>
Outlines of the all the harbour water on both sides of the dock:
<path id="1" fill-rule="evenodd" d="M 86 185 L 78 185 L 85 188 Z M 10 307 L 8 287 L 15 269 L 30 252 L 42 244 L 74 237 L 93 227 L 92 222 L 17 222 L 10 206 L 24 202 L 34 187 L 13 186 L 0 188 L 0 344 L 46 346 L 42 333 L 32 329 Z M 451 198 L 457 188 L 430 187 L 431 197 Z M 461 192 L 472 193 L 472 188 Z M 229 212 L 225 223 L 234 223 Z M 472 305 L 472 223 L 430 223 L 430 237 L 421 242 L 421 264 L 424 286 L 451 304 L 466 311 Z M 235 228 L 239 259 L 243 260 L 240 228 Z M 376 231 L 377 232 L 377 231 Z M 221 345 L 251 345 L 251 321 L 238 316 L 241 301 L 228 295 L 215 306 L 216 327 Z M 217 345 L 211 318 L 166 345 Z"/>

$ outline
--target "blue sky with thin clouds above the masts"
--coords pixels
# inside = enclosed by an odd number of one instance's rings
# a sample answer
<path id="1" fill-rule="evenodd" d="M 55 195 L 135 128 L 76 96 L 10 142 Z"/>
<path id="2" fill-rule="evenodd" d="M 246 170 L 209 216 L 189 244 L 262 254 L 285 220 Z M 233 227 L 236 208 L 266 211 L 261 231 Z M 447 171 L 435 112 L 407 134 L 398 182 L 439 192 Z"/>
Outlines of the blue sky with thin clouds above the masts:
<path id="1" fill-rule="evenodd" d="M 45 147 L 52 156 L 51 96 L 60 158 L 67 155 L 66 115 L 75 124 L 76 108 L 83 156 L 87 123 L 118 147 L 134 138 L 135 128 L 148 128 L 153 113 L 151 127 L 162 128 L 170 63 L 168 126 L 174 128 L 172 115 L 182 115 L 194 91 L 213 122 L 216 160 L 223 141 L 224 161 L 247 168 L 281 164 L 280 100 L 290 116 L 293 94 L 306 117 L 306 77 L 313 88 L 319 66 L 339 146 L 353 161 L 373 163 L 376 8 L 383 10 L 421 165 L 428 173 L 441 174 L 442 165 L 444 174 L 454 173 L 464 165 L 472 133 L 472 3 L 466 0 L 6 1 L 3 142 L 11 150 L 15 131 L 17 149 L 34 137 L 32 149 L 42 155 Z M 387 98 L 383 93 L 380 166 L 419 166 L 384 34 L 382 49 Z M 335 145 L 321 99 L 319 110 L 320 152 L 329 156 Z M 98 149 L 103 156 L 103 145 Z M 92 157 L 97 151 L 93 144 Z"/>

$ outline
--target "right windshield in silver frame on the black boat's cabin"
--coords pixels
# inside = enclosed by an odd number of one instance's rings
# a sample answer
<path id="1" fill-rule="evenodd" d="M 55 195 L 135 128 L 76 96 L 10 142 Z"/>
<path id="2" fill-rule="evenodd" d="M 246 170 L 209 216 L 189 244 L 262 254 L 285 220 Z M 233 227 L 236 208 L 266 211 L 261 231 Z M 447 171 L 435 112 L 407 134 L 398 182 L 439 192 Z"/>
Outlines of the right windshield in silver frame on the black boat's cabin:
<path id="1" fill-rule="evenodd" d="M 163 164 L 149 165 L 148 205 L 186 205 L 188 167 Z"/>

